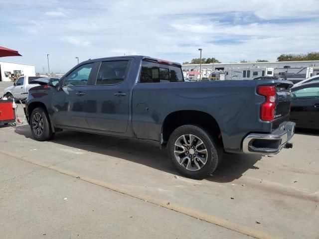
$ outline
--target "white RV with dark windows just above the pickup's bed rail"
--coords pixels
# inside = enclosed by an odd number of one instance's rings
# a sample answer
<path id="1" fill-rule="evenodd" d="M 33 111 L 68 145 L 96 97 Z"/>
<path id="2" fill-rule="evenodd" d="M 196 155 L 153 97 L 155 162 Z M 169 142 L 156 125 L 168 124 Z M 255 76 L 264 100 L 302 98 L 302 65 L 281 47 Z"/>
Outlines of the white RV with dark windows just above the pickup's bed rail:
<path id="1" fill-rule="evenodd" d="M 253 80 L 262 76 L 274 76 L 274 68 L 242 68 L 225 71 L 225 80 Z"/>

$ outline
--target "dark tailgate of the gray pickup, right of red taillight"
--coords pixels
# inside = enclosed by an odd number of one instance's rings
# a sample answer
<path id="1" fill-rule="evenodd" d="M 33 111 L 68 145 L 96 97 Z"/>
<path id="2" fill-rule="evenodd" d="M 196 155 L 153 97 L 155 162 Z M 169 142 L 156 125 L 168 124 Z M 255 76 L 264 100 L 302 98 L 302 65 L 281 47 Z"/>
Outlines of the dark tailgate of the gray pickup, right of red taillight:
<path id="1" fill-rule="evenodd" d="M 291 82 L 281 82 L 276 85 L 276 109 L 272 129 L 278 128 L 284 121 L 289 121 L 292 86 Z"/>

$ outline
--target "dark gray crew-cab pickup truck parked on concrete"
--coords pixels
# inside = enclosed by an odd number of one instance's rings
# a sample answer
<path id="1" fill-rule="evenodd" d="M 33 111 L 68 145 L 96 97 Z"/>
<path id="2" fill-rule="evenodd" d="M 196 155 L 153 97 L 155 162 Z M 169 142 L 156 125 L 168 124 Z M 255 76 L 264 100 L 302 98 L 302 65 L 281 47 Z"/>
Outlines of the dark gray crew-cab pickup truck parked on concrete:
<path id="1" fill-rule="evenodd" d="M 274 154 L 292 147 L 292 85 L 184 82 L 178 63 L 146 56 L 101 58 L 32 88 L 26 116 L 39 141 L 62 129 L 158 141 L 181 174 L 203 178 L 224 151 Z"/>

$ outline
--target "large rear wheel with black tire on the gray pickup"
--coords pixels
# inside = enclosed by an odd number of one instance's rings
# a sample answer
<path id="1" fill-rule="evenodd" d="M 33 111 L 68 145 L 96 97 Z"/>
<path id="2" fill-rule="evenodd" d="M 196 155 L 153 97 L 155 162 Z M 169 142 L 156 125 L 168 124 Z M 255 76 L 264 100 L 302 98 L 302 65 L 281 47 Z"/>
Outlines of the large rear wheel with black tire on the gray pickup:
<path id="1" fill-rule="evenodd" d="M 187 144 L 181 143 L 183 144 L 182 147 L 175 146 L 175 142 L 178 144 L 178 142 L 184 141 L 183 139 L 181 139 L 183 135 L 185 135 L 186 137 Z M 192 135 L 191 137 L 193 138 L 194 143 L 191 143 L 192 140 L 190 135 Z M 198 145 L 196 145 L 196 140 Z M 198 149 L 198 147 L 201 147 L 200 146 L 201 143 L 199 143 L 199 141 L 203 142 L 202 147 L 206 149 L 203 152 L 203 154 L 201 154 L 199 150 L 202 151 L 204 149 L 203 148 Z M 188 145 L 188 142 L 190 143 L 190 145 Z M 192 145 L 193 145 L 193 148 L 197 149 L 198 151 L 197 150 L 194 151 L 194 149 L 190 151 L 191 150 L 190 147 L 192 147 Z M 187 150 L 187 148 L 189 148 L 188 149 L 189 151 L 186 151 L 187 153 L 182 152 L 181 154 L 179 154 L 179 152 L 177 152 L 178 154 L 176 156 L 177 158 L 175 157 L 174 150 L 181 151 L 181 150 Z M 182 125 L 176 128 L 172 132 L 172 134 L 170 135 L 168 139 L 167 149 L 168 149 L 169 157 L 173 165 L 177 169 L 177 171 L 186 177 L 194 178 L 194 179 L 203 179 L 207 177 L 208 175 L 212 174 L 217 168 L 217 166 L 219 165 L 219 163 L 221 162 L 222 153 L 223 153 L 221 142 L 217 140 L 217 137 L 213 137 L 203 128 L 196 125 L 191 125 L 191 124 Z M 193 151 L 194 151 L 194 154 L 192 155 L 191 153 L 193 153 Z M 189 156 L 187 156 L 187 154 Z M 180 155 L 186 155 L 186 156 L 180 156 Z M 206 158 L 206 161 L 203 160 L 205 163 L 199 160 L 198 155 L 205 156 L 205 157 L 201 157 L 202 159 Z M 189 159 L 189 157 L 192 157 L 192 158 Z M 196 164 L 194 162 L 195 160 L 196 160 Z M 190 163 L 189 166 L 188 166 L 188 161 Z M 187 169 L 188 167 L 191 169 Z"/>

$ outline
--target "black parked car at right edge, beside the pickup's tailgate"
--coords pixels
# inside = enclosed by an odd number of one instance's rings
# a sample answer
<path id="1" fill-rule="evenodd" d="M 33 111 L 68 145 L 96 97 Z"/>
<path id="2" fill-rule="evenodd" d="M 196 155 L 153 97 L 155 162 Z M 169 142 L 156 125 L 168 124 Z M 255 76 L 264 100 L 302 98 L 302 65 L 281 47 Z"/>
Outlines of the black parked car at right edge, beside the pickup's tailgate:
<path id="1" fill-rule="evenodd" d="M 319 129 L 319 82 L 292 88 L 290 120 L 296 127 Z"/>

